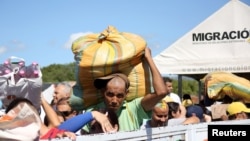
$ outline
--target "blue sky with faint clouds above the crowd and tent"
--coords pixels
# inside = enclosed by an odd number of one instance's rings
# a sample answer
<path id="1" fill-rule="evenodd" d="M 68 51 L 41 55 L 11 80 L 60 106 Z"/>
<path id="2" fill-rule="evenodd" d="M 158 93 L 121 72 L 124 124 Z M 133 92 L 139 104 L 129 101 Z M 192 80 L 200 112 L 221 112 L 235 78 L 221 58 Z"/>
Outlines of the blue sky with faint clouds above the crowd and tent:
<path id="1" fill-rule="evenodd" d="M 72 63 L 72 42 L 109 25 L 141 36 L 156 56 L 229 1 L 1 0 L 0 64 L 11 56 L 40 67 Z"/>

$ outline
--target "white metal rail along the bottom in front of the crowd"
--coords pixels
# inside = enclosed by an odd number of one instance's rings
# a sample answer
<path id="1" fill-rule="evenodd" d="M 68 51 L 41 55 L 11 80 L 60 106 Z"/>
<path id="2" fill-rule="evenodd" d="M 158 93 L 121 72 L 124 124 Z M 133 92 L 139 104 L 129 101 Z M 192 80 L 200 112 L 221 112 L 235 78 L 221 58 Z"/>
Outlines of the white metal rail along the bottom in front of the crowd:
<path id="1" fill-rule="evenodd" d="M 130 132 L 101 133 L 92 135 L 77 136 L 77 141 L 203 141 L 207 139 L 208 125 L 250 125 L 250 119 L 216 121 L 209 123 L 199 123 L 190 125 L 166 126 L 157 128 L 148 128 Z M 46 140 L 44 140 L 46 141 Z M 71 141 L 68 138 L 52 139 L 50 141 Z"/>

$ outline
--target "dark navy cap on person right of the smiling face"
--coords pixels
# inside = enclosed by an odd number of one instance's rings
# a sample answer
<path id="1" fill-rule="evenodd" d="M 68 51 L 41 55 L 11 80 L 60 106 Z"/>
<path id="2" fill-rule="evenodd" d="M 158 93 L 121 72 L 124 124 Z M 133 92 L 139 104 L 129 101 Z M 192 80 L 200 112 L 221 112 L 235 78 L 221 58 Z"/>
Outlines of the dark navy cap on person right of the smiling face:
<path id="1" fill-rule="evenodd" d="M 187 107 L 187 117 L 193 116 L 193 113 L 202 121 L 203 120 L 203 109 L 198 105 L 191 105 Z"/>

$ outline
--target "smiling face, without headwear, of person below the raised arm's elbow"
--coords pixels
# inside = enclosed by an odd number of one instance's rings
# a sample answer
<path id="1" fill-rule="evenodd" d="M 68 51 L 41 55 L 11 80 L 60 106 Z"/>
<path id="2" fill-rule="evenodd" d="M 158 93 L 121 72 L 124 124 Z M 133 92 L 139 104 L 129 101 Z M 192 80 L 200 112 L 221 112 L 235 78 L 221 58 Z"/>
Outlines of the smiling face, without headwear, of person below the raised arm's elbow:
<path id="1" fill-rule="evenodd" d="M 152 113 L 151 126 L 166 126 L 168 121 L 168 108 L 155 107 Z"/>

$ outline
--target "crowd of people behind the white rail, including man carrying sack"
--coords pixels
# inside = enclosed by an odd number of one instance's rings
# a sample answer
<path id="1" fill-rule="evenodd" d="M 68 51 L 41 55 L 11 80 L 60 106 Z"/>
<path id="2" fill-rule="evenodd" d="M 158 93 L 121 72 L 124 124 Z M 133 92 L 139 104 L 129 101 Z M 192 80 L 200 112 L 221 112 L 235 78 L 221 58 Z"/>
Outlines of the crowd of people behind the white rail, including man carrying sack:
<path id="1" fill-rule="evenodd" d="M 102 92 L 103 102 L 84 111 L 71 107 L 72 86 L 66 82 L 55 85 L 52 101 L 41 95 L 45 117 L 40 120 L 39 139 L 69 137 L 74 140 L 77 135 L 249 118 L 250 109 L 241 101 L 232 101 L 224 108 L 226 114 L 214 119 L 211 109 L 202 102 L 194 103 L 189 94 L 180 97 L 173 93 L 172 80 L 161 76 L 149 48 L 145 49 L 144 58 L 152 73 L 154 91 L 143 97 L 126 101 L 130 81 L 119 72 L 95 79 L 94 86 Z M 20 103 L 33 106 L 28 99 L 16 98 L 6 108 L 5 114 Z M 0 121 L 3 118 L 6 116 Z"/>

